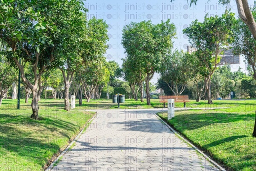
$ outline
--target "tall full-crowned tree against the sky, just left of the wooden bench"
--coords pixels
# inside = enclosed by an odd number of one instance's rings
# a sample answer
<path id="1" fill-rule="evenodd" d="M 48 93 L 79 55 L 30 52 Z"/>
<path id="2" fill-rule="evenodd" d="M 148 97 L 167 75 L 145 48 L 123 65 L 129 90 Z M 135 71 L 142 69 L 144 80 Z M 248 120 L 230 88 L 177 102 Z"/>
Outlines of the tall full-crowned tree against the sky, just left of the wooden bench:
<path id="1" fill-rule="evenodd" d="M 133 58 L 133 67 L 141 68 L 145 75 L 147 105 L 150 105 L 149 81 L 170 52 L 175 31 L 169 19 L 159 24 L 152 24 L 150 20 L 131 22 L 122 29 L 121 43 L 127 53 L 126 57 Z"/>

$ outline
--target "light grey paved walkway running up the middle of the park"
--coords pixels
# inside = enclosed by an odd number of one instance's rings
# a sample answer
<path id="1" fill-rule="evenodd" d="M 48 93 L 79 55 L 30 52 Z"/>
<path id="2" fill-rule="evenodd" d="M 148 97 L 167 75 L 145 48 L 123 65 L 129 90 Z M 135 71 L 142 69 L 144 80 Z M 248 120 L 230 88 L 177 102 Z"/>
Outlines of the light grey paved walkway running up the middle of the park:
<path id="1" fill-rule="evenodd" d="M 219 170 L 162 123 L 157 110 L 97 110 L 51 170 Z"/>

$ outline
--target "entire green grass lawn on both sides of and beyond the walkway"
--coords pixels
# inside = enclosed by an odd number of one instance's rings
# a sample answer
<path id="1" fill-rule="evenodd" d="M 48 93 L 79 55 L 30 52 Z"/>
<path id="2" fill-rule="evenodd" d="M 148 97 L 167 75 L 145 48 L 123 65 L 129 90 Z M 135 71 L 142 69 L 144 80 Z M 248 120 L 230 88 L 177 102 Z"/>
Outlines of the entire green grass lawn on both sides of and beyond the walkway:
<path id="1" fill-rule="evenodd" d="M 31 100 L 31 99 L 30 99 Z M 256 100 L 215 100 L 186 103 L 191 110 L 177 110 L 168 120 L 195 145 L 230 170 L 256 170 L 256 138 L 251 137 Z M 30 119 L 31 101 L 3 99 L 0 106 L 0 170 L 41 170 L 49 160 L 63 150 L 93 113 L 82 109 L 117 108 L 112 99 L 83 100 L 75 109 L 63 110 L 64 100 L 41 99 L 39 120 Z M 159 99 L 151 99 L 151 106 L 133 99 L 125 99 L 120 108 L 158 108 Z M 175 103 L 183 107 L 183 103 Z M 217 107 L 227 107 L 216 109 Z M 212 109 L 213 108 L 213 109 Z M 211 109 L 211 110 L 208 110 Z M 166 119 L 167 113 L 159 113 Z"/>

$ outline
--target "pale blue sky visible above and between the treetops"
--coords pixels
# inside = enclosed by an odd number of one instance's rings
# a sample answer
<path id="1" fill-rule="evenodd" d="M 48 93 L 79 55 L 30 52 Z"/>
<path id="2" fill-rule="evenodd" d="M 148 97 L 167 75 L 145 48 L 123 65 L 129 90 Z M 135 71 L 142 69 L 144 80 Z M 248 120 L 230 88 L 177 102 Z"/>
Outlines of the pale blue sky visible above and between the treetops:
<path id="1" fill-rule="evenodd" d="M 250 6 L 253 6 L 253 0 L 248 0 Z M 187 4 L 186 0 L 86 0 L 85 7 L 88 9 L 88 19 L 95 16 L 102 18 L 108 24 L 109 48 L 106 51 L 106 59 L 116 61 L 120 66 L 121 58 L 125 58 L 124 49 L 121 45 L 122 28 L 125 24 L 140 22 L 142 20 L 151 20 L 153 24 L 166 21 L 168 18 L 176 26 L 176 37 L 172 41 L 173 48 L 186 50 L 189 45 L 186 35 L 182 29 L 197 19 L 203 21 L 206 14 L 208 16 L 221 15 L 224 10 L 231 9 L 238 16 L 235 0 L 230 0 L 230 4 L 218 4 L 218 0 L 198 0 L 196 5 Z M 240 66 L 242 71 L 246 72 L 244 58 L 240 57 L 240 64 L 232 64 L 231 70 L 235 71 Z M 152 82 L 156 83 L 159 74 L 156 73 Z"/>

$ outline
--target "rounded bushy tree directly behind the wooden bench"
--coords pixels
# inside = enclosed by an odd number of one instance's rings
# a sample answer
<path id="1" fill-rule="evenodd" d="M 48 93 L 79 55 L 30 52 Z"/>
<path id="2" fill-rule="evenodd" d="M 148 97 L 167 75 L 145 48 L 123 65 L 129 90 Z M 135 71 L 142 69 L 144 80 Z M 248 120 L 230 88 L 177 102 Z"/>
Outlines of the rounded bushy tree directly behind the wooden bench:
<path id="1" fill-rule="evenodd" d="M 180 95 L 191 77 L 187 61 L 189 54 L 175 49 L 161 65 L 161 79 L 164 80 L 174 95 Z M 193 66 L 194 67 L 194 66 Z"/>

